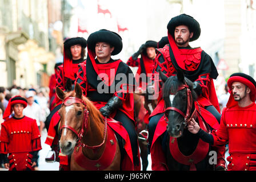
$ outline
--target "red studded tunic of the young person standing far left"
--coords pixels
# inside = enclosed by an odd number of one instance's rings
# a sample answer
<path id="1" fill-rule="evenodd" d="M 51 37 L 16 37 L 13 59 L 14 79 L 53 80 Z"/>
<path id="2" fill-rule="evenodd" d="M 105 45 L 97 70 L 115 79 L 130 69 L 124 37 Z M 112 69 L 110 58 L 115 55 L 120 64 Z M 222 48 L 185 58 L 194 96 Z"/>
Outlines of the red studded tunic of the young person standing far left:
<path id="1" fill-rule="evenodd" d="M 12 117 L 2 123 L 0 153 L 9 154 L 9 170 L 32 169 L 32 155 L 29 152 L 41 149 L 41 136 L 35 119 L 26 116 L 22 119 Z"/>

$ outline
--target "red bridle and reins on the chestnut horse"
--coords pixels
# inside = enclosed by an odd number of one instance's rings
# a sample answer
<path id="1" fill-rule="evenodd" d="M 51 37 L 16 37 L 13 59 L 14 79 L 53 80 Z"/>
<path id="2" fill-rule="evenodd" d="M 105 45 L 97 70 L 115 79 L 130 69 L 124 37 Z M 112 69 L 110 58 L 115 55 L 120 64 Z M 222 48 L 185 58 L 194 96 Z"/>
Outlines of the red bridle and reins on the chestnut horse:
<path id="1" fill-rule="evenodd" d="M 101 144 L 97 145 L 97 146 L 87 146 L 87 144 L 84 144 L 81 142 L 81 139 L 83 137 L 83 133 L 84 133 L 84 127 L 86 129 L 86 133 L 87 133 L 87 123 L 88 123 L 88 117 L 89 117 L 89 110 L 87 110 L 87 106 L 86 106 L 86 103 L 85 101 L 83 101 L 82 99 L 80 98 L 77 98 L 77 97 L 67 97 L 65 100 L 63 100 L 62 104 L 64 104 L 65 106 L 70 106 L 72 104 L 75 104 L 75 103 L 81 103 L 85 106 L 85 109 L 84 109 L 84 115 L 83 115 L 83 123 L 82 123 L 82 129 L 79 131 L 79 133 L 71 126 L 69 125 L 62 125 L 61 126 L 61 130 L 63 128 L 66 128 L 66 129 L 69 129 L 71 131 L 74 132 L 75 135 L 77 135 L 78 139 L 77 139 L 77 143 L 78 143 L 78 146 L 83 146 L 85 148 L 90 148 L 90 149 L 95 149 L 95 148 L 98 148 L 98 147 L 101 147 L 103 143 L 105 143 L 105 140 L 106 140 L 106 133 L 107 133 L 107 118 L 105 117 L 105 129 L 104 129 L 104 139 L 102 141 Z M 85 134 L 86 134 L 85 133 Z"/>

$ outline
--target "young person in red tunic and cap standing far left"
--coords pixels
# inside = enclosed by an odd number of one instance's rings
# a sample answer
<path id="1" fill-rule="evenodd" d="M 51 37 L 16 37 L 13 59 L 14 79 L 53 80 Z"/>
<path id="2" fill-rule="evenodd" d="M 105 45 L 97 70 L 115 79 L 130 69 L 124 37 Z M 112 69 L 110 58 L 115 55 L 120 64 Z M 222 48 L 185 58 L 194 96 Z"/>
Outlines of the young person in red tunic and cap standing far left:
<path id="1" fill-rule="evenodd" d="M 25 98 L 15 96 L 3 113 L 5 122 L 0 135 L 0 153 L 5 154 L 5 168 L 9 171 L 34 170 L 38 151 L 42 149 L 37 122 L 22 113 L 26 106 Z M 13 111 L 14 116 L 9 118 Z"/>

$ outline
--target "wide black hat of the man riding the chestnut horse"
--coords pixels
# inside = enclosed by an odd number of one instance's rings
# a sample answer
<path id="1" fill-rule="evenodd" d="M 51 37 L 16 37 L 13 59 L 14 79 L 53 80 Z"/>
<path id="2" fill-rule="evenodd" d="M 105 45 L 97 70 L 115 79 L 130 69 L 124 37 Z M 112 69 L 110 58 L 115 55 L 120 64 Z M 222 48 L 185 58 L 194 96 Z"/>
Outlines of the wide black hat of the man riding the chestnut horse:
<path id="1" fill-rule="evenodd" d="M 97 42 L 106 42 L 109 43 L 110 46 L 113 46 L 114 51 L 111 53 L 111 55 L 117 55 L 119 52 L 122 51 L 123 48 L 121 36 L 115 32 L 105 29 L 90 34 L 87 39 L 88 49 L 91 49 L 91 51 L 94 52 Z"/>

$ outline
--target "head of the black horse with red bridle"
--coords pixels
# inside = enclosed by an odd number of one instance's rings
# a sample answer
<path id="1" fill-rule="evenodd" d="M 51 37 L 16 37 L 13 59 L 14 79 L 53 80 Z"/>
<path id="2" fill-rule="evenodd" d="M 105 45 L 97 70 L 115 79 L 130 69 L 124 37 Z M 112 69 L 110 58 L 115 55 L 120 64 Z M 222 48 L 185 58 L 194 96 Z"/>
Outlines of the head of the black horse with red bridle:
<path id="1" fill-rule="evenodd" d="M 187 122 L 195 114 L 197 94 L 193 90 L 193 82 L 184 77 L 182 71 L 177 71 L 177 76 L 169 78 L 162 72 L 159 74 L 164 82 L 162 94 L 167 132 L 171 137 L 181 137 Z"/>

